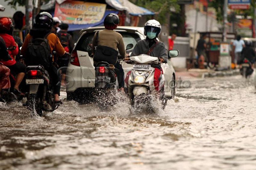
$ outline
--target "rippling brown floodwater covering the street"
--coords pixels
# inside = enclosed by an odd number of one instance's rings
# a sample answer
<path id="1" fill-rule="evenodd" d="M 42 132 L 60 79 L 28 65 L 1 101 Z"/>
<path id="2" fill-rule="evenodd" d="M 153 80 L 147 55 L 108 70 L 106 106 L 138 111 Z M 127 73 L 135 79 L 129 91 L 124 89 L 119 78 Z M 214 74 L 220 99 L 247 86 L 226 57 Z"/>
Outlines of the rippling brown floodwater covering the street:
<path id="1" fill-rule="evenodd" d="M 157 114 L 130 114 L 127 100 L 106 112 L 65 101 L 43 117 L 0 104 L 0 169 L 255 170 L 252 82 L 193 79 Z"/>

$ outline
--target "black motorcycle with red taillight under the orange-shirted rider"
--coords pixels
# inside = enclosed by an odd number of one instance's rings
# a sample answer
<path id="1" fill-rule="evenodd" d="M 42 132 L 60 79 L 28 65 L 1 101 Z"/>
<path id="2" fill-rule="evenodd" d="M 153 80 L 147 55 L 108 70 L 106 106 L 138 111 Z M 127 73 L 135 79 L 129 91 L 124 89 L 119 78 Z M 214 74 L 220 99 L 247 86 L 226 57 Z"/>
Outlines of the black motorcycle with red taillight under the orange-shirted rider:
<path id="1" fill-rule="evenodd" d="M 42 116 L 43 111 L 54 111 L 60 103 L 55 104 L 53 86 L 48 72 L 42 65 L 27 66 L 27 108 Z"/>

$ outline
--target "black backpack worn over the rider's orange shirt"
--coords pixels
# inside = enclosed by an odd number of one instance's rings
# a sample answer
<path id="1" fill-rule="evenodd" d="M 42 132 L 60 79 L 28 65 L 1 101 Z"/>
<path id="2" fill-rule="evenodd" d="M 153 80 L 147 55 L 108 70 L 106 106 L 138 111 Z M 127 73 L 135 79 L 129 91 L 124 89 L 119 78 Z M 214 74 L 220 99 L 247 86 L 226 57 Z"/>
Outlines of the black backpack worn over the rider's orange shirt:
<path id="1" fill-rule="evenodd" d="M 46 69 L 52 64 L 51 50 L 46 39 L 48 33 L 44 38 L 31 38 L 27 47 L 26 64 L 30 65 L 42 65 Z"/>

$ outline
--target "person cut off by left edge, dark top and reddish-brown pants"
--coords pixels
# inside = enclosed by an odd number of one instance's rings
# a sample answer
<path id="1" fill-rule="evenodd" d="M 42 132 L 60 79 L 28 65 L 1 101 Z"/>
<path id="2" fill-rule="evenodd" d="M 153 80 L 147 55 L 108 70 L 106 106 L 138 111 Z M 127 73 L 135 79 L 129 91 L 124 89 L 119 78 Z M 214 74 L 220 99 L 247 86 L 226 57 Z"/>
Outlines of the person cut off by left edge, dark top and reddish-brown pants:
<path id="1" fill-rule="evenodd" d="M 9 79 L 10 69 L 2 63 L 2 61 L 10 59 L 9 53 L 6 49 L 5 41 L 0 37 L 0 102 L 5 102 L 2 98 L 2 89 L 9 89 L 11 87 Z"/>

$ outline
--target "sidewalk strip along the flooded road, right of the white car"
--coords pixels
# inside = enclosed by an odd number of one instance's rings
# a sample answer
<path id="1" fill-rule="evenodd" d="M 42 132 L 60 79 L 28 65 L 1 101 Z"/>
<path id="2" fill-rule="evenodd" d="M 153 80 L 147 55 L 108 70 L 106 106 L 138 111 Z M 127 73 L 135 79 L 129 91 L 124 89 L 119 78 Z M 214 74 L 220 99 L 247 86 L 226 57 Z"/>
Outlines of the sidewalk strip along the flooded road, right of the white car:
<path id="1" fill-rule="evenodd" d="M 205 77 L 224 77 L 240 74 L 239 69 L 215 71 L 208 69 L 192 68 L 187 70 L 186 68 L 175 68 L 176 79 L 179 77 L 182 80 L 191 78 L 205 78 Z"/>

